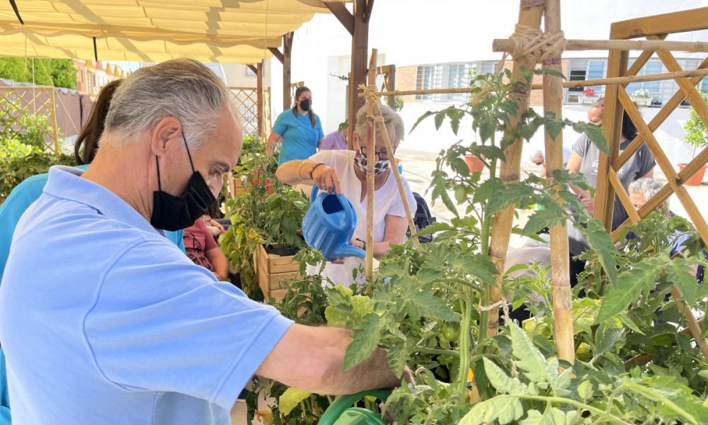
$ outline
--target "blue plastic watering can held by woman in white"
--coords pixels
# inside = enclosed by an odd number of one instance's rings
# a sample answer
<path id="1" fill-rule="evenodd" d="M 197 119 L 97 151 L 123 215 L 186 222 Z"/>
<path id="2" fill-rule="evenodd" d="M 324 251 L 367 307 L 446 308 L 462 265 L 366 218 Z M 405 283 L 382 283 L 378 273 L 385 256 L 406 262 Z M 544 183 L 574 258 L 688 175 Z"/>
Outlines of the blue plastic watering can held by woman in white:
<path id="1" fill-rule="evenodd" d="M 326 192 L 318 195 L 318 191 L 317 186 L 312 187 L 310 207 L 302 219 L 305 242 L 320 251 L 327 261 L 346 256 L 365 258 L 363 249 L 349 244 L 356 229 L 354 205 L 336 190 L 331 195 Z"/>

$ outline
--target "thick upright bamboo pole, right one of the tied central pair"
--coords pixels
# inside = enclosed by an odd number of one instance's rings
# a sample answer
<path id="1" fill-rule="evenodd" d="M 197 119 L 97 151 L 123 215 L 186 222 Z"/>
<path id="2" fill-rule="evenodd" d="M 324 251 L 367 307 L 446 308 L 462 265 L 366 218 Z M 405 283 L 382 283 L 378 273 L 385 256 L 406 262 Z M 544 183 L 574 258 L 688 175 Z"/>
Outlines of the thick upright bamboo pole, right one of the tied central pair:
<path id="1" fill-rule="evenodd" d="M 546 0 L 544 11 L 546 33 L 552 35 L 561 32 L 560 0 Z M 544 61 L 544 67 L 561 72 L 561 50 Z M 563 84 L 559 77 L 543 76 L 543 110 L 554 113 L 556 119 L 563 115 Z M 554 183 L 553 171 L 563 169 L 563 133 L 552 138 L 545 132 L 546 139 L 546 175 L 549 185 Z M 556 184 L 556 190 L 561 186 Z M 557 200 L 557 197 L 556 197 Z M 573 342 L 573 303 L 571 299 L 568 229 L 561 223 L 550 229 L 551 237 L 551 278 L 553 291 L 553 317 L 555 322 L 556 351 L 561 360 L 575 361 Z"/>

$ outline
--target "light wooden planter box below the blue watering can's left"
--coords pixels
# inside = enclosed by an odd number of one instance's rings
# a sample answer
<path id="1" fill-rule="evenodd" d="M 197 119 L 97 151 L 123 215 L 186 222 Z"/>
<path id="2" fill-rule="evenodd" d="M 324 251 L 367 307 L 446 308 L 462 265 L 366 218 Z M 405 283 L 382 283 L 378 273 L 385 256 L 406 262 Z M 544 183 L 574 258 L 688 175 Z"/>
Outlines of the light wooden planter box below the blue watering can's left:
<path id="1" fill-rule="evenodd" d="M 268 254 L 265 246 L 258 245 L 253 253 L 253 268 L 256 270 L 258 286 L 266 298 L 282 300 L 290 286 L 290 280 L 297 274 L 297 263 L 292 255 Z"/>

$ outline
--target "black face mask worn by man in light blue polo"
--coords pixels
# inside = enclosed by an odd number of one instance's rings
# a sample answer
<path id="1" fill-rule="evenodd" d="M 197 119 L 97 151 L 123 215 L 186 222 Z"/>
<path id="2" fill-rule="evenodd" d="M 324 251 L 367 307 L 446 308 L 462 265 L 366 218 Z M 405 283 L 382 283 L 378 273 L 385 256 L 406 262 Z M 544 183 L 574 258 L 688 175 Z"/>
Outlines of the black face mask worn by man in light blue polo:
<path id="1" fill-rule="evenodd" d="M 199 217 L 209 208 L 212 203 L 215 203 L 216 198 L 212 193 L 204 178 L 195 171 L 192 162 L 192 155 L 189 153 L 187 139 L 182 132 L 182 140 L 184 147 L 187 149 L 189 164 L 192 166 L 192 176 L 187 182 L 187 187 L 180 196 L 173 196 L 162 191 L 160 182 L 160 163 L 157 157 L 157 185 L 159 190 L 152 193 L 152 217 L 150 224 L 157 229 L 169 230 L 174 232 L 180 229 L 186 229 L 194 224 Z"/>

